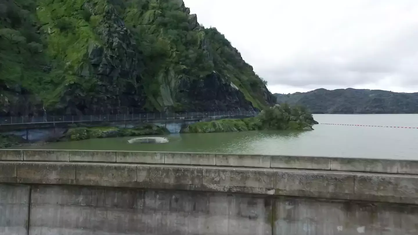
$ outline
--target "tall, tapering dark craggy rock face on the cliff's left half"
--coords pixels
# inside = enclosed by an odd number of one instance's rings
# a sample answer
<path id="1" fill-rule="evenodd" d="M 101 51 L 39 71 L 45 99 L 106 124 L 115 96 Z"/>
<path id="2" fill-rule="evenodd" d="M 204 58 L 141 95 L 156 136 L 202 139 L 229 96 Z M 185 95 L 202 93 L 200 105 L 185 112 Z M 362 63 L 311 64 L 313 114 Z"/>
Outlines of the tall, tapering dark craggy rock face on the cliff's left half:
<path id="1" fill-rule="evenodd" d="M 64 98 L 66 114 L 125 113 L 135 108 L 142 109 L 145 95 L 140 74 L 143 72 L 141 53 L 130 31 L 114 8 L 108 8 L 99 36 L 104 46 L 92 44 L 87 60 L 80 66 L 82 77 L 94 77 L 94 95 L 78 93 L 79 84 L 67 89 Z M 85 90 L 85 89 L 84 89 Z"/>

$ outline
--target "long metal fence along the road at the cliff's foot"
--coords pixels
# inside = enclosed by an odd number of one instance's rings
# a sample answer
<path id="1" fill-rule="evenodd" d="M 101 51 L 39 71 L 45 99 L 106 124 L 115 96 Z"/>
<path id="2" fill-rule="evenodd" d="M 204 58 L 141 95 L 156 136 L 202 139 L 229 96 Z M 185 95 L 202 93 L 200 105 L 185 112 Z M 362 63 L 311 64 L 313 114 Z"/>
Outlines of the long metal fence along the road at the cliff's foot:
<path id="1" fill-rule="evenodd" d="M 132 121 L 132 120 L 181 120 L 199 117 L 233 117 L 255 116 L 255 111 L 210 111 L 210 112 L 179 112 L 179 113 L 138 113 L 138 114 L 108 114 L 108 115 L 77 115 L 77 116 L 41 116 L 41 117 L 0 117 L 0 125 L 29 123 L 78 123 L 97 121 Z"/>

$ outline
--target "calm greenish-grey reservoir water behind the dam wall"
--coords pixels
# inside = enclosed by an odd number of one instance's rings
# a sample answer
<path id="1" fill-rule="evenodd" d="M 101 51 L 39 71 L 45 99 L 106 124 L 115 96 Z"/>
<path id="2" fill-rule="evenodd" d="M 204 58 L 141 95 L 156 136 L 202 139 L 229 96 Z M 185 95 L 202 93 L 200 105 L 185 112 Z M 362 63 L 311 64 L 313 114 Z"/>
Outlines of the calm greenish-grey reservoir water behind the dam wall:
<path id="1" fill-rule="evenodd" d="M 418 115 L 314 115 L 319 123 L 418 127 Z M 126 138 L 30 146 L 33 149 L 184 151 L 349 158 L 418 159 L 418 129 L 314 125 L 313 131 L 171 134 L 170 143 L 129 144 Z"/>

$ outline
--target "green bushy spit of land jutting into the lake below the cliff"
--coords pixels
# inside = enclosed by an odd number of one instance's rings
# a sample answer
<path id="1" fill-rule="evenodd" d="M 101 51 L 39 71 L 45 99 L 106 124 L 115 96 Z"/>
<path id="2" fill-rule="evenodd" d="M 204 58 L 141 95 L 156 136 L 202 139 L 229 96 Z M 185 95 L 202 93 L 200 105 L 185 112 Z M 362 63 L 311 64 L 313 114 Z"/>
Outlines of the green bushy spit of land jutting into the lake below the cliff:
<path id="1" fill-rule="evenodd" d="M 263 110 L 257 117 L 244 119 L 222 119 L 194 123 L 182 130 L 184 133 L 212 133 L 247 130 L 313 130 L 318 124 L 303 107 L 287 104 L 275 105 Z"/>

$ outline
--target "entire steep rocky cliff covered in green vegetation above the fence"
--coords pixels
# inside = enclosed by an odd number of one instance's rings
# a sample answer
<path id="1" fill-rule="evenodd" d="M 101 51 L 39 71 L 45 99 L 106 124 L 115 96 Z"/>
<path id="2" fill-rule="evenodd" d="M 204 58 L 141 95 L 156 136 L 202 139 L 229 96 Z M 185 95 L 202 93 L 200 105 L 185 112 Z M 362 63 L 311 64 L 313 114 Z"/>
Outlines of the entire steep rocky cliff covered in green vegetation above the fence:
<path id="1" fill-rule="evenodd" d="M 0 0 L 0 115 L 274 103 L 237 49 L 182 0 Z"/>

